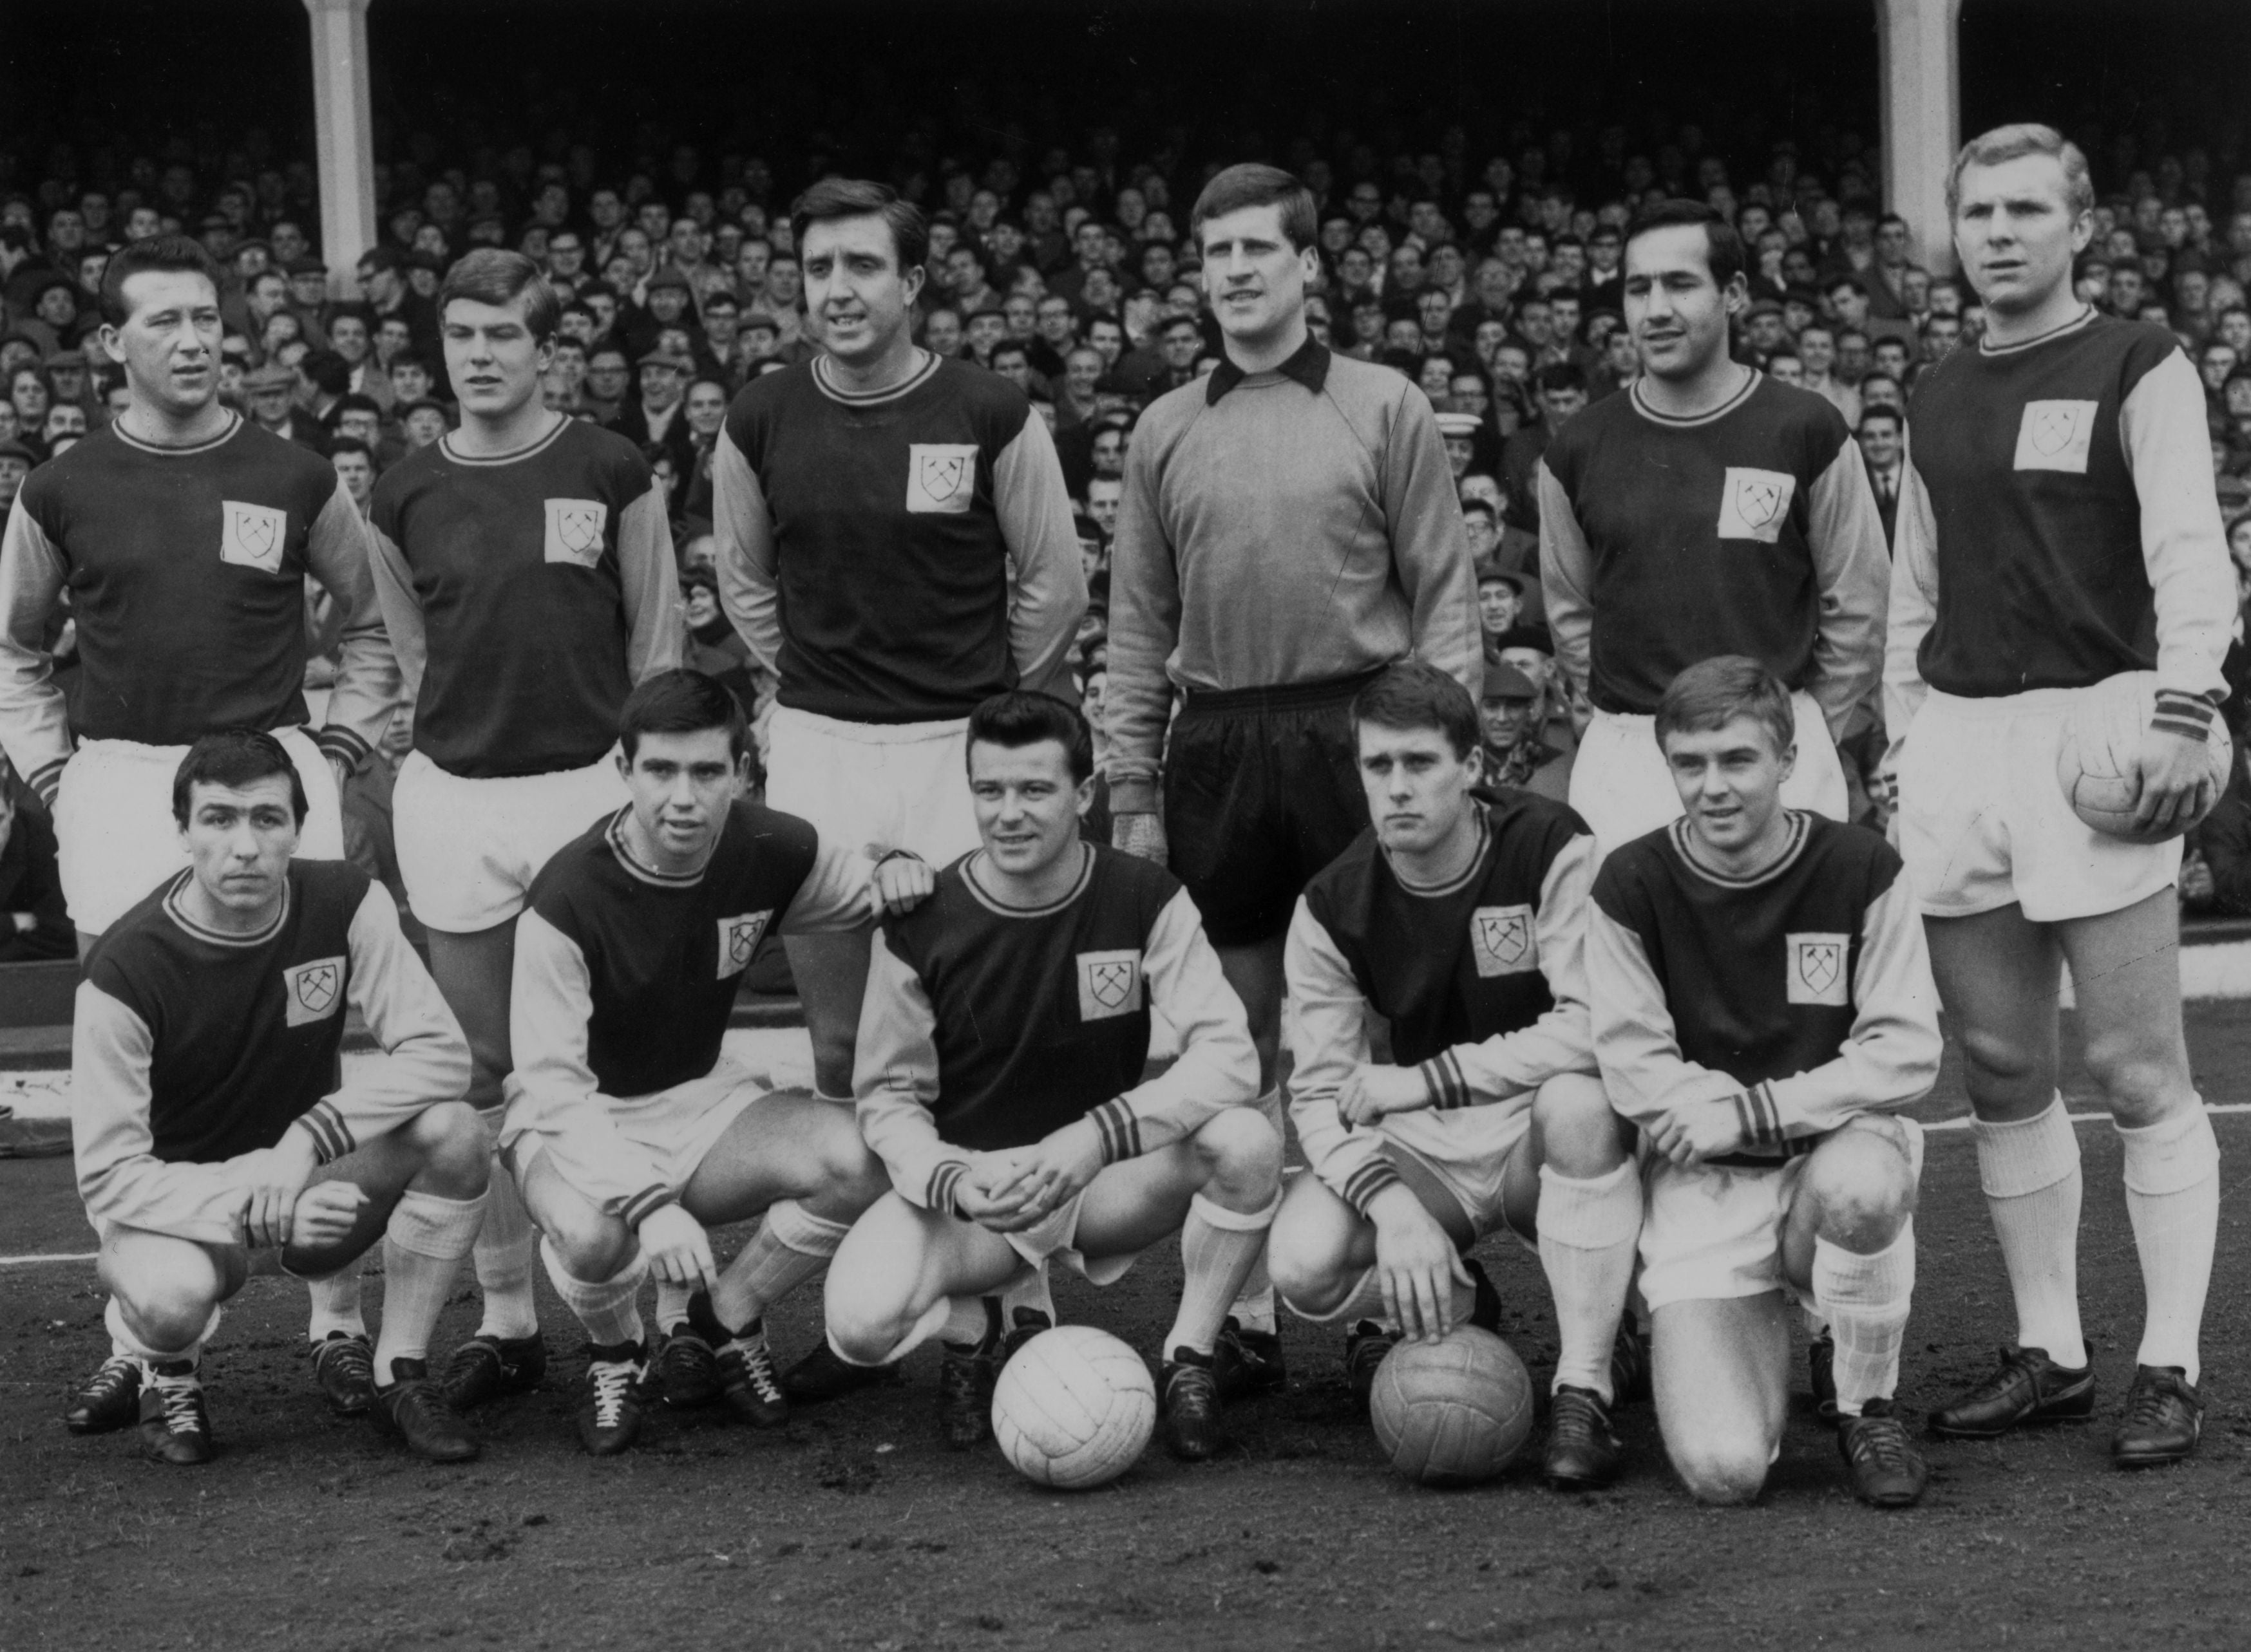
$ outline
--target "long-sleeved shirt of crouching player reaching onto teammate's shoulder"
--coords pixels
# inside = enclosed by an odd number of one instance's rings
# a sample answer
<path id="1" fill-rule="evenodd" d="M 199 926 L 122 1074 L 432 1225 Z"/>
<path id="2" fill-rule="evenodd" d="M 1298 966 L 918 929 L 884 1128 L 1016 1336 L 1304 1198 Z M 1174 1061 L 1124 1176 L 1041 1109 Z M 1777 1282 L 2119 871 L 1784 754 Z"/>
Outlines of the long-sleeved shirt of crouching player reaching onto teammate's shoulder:
<path id="1" fill-rule="evenodd" d="M 720 1065 L 743 970 L 774 934 L 867 923 L 871 862 L 813 826 L 736 803 L 700 871 L 635 858 L 626 810 L 531 880 L 515 921 L 502 1146 L 538 1132 L 563 1179 L 639 1224 L 675 1188 L 617 1119 Z"/>

